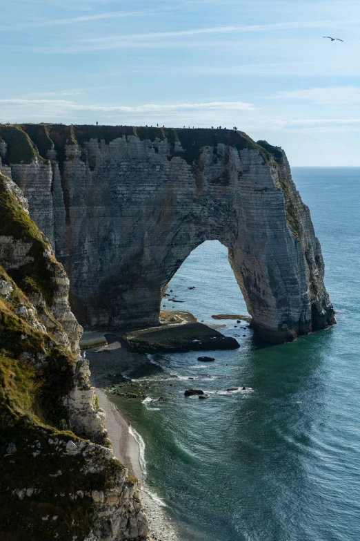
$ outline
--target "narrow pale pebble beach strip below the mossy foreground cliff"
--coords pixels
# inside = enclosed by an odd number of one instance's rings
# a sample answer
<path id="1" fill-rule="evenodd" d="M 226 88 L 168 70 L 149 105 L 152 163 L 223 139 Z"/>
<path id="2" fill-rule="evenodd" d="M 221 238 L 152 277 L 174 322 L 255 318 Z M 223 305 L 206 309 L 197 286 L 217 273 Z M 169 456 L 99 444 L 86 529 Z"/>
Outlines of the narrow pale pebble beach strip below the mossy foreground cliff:
<path id="1" fill-rule="evenodd" d="M 166 504 L 162 504 L 157 495 L 152 494 L 146 486 L 145 462 L 141 457 L 141 446 L 145 448 L 145 444 L 141 435 L 130 426 L 119 408 L 108 398 L 106 389 L 96 388 L 96 393 L 99 406 L 106 413 L 108 437 L 112 442 L 115 457 L 128 468 L 130 475 L 141 481 L 141 495 L 148 517 L 150 538 L 156 541 L 180 541 L 176 526 L 166 512 Z"/>

